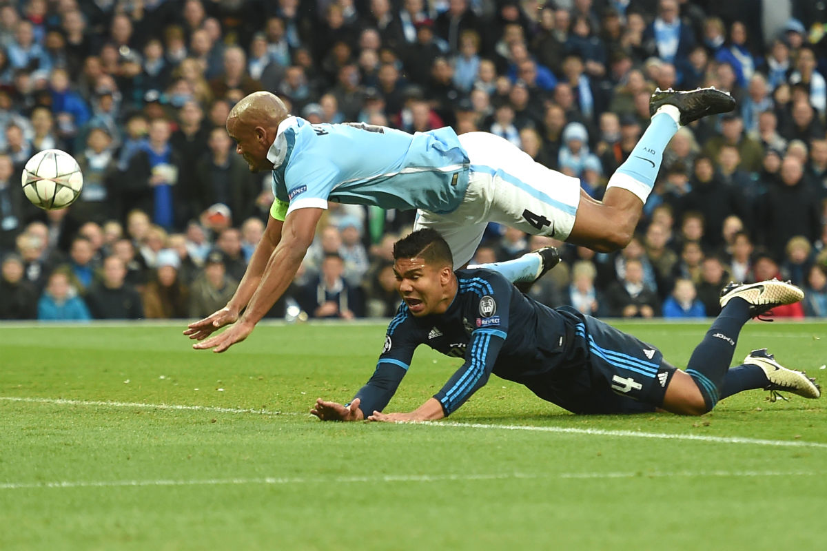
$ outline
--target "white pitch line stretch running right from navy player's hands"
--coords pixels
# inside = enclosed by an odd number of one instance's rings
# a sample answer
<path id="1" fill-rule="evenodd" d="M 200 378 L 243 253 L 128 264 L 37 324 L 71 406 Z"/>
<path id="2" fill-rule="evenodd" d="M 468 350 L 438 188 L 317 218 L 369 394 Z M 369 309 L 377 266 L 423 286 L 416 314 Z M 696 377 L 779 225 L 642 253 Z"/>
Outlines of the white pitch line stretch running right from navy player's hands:
<path id="1" fill-rule="evenodd" d="M 701 442 L 716 442 L 719 444 L 757 444 L 762 446 L 827 448 L 827 444 L 822 442 L 803 442 L 801 440 L 767 440 L 758 438 L 743 438 L 741 436 L 675 435 L 659 432 L 638 432 L 636 430 L 574 429 L 571 427 L 536 425 L 485 425 L 483 423 L 453 423 L 447 421 L 423 421 L 417 424 L 428 426 L 460 427 L 466 429 L 535 430 L 538 432 L 554 432 L 571 435 L 699 440 Z"/>

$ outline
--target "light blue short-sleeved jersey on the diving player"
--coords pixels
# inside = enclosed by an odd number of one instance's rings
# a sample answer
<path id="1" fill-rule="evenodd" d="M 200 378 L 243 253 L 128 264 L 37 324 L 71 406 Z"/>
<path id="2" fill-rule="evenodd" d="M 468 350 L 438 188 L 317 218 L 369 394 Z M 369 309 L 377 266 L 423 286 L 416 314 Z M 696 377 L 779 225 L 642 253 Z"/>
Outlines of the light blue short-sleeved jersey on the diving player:
<path id="1" fill-rule="evenodd" d="M 465 197 L 470 167 L 451 128 L 411 135 L 361 123 L 311 125 L 295 116 L 280 124 L 267 159 L 275 167 L 270 212 L 280 220 L 328 201 L 450 212 Z"/>

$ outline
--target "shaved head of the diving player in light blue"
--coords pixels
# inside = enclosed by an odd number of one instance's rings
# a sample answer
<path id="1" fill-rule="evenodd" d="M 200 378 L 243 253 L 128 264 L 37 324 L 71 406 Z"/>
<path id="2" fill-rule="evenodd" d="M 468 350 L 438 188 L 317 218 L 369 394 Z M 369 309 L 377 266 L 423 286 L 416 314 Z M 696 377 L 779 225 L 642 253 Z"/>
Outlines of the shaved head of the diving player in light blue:
<path id="1" fill-rule="evenodd" d="M 244 157 L 251 172 L 270 170 L 267 159 L 281 121 L 289 116 L 278 97 L 269 92 L 254 92 L 241 98 L 227 115 L 227 134 L 236 140 L 236 152 Z"/>

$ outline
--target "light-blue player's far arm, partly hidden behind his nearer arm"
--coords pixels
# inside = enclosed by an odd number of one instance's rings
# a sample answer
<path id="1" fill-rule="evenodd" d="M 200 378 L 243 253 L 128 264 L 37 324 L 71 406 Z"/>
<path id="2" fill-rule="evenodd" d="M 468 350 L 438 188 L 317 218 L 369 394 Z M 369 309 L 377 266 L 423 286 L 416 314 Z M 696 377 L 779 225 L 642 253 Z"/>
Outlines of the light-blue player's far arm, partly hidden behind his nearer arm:
<path id="1" fill-rule="evenodd" d="M 265 267 L 273 255 L 275 247 L 279 245 L 281 240 L 281 229 L 284 222 L 276 220 L 273 216 L 269 217 L 267 227 L 264 235 L 261 237 L 256 250 L 250 259 L 250 264 L 241 278 L 241 283 L 238 284 L 235 294 L 227 302 L 221 310 L 213 312 L 213 314 L 203 318 L 203 320 L 194 321 L 184 330 L 184 335 L 188 335 L 190 339 L 204 340 L 213 331 L 221 329 L 224 325 L 234 323 L 238 319 L 238 315 L 250 302 L 253 293 L 256 292 L 261 277 L 264 274 Z"/>

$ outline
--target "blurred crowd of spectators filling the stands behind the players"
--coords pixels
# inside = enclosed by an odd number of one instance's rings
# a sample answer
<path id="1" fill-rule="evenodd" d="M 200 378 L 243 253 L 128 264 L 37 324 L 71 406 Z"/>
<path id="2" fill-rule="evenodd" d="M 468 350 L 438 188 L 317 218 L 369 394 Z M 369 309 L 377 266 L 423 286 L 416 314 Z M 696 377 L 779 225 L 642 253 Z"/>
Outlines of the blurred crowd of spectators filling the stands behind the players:
<path id="1" fill-rule="evenodd" d="M 0 0 L 0 319 L 199 318 L 263 234 L 269 173 L 224 129 L 256 90 L 313 123 L 489 131 L 600 198 L 656 87 L 735 112 L 681 128 L 638 235 L 595 254 L 491 225 L 474 263 L 558 245 L 531 294 L 599 316 L 715 316 L 729 280 L 791 279 L 827 316 L 827 5 L 813 0 Z M 39 211 L 20 173 L 73 154 Z M 270 316 L 392 316 L 413 212 L 331 205 Z"/>

